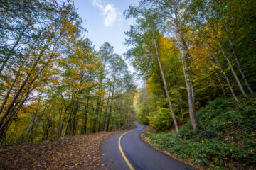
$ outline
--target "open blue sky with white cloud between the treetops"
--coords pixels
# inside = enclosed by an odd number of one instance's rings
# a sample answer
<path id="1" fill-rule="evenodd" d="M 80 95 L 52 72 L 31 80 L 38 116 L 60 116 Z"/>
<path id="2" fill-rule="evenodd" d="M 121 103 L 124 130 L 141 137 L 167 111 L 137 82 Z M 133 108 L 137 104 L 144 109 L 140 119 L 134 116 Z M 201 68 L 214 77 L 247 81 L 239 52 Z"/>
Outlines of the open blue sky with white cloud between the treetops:
<path id="1" fill-rule="evenodd" d="M 123 12 L 130 4 L 136 4 L 138 0 L 74 0 L 78 13 L 83 20 L 90 38 L 96 50 L 104 42 L 110 42 L 114 46 L 114 52 L 122 55 L 126 52 L 124 31 L 129 30 L 132 20 L 126 20 Z"/>

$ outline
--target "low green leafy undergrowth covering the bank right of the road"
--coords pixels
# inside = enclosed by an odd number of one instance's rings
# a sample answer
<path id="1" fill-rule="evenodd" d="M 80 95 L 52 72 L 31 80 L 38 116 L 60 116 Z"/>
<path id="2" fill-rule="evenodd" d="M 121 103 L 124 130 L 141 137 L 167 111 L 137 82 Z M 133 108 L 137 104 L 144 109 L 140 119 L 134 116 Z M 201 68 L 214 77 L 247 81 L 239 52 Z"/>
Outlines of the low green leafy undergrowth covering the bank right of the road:
<path id="1" fill-rule="evenodd" d="M 179 134 L 152 133 L 148 140 L 203 169 L 253 169 L 255 112 L 255 97 L 239 104 L 233 98 L 216 98 L 196 114 L 197 135 L 189 122 Z"/>

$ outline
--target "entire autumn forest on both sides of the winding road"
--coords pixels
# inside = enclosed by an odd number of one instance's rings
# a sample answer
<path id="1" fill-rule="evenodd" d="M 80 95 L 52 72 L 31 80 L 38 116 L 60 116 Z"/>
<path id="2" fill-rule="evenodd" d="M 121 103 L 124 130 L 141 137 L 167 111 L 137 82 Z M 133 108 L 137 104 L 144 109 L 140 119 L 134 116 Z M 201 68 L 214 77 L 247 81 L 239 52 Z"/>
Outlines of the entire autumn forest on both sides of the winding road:
<path id="1" fill-rule="evenodd" d="M 139 0 L 123 56 L 95 50 L 73 1 L 0 8 L 1 145 L 139 120 L 144 140 L 199 168 L 255 168 L 255 0 Z"/>

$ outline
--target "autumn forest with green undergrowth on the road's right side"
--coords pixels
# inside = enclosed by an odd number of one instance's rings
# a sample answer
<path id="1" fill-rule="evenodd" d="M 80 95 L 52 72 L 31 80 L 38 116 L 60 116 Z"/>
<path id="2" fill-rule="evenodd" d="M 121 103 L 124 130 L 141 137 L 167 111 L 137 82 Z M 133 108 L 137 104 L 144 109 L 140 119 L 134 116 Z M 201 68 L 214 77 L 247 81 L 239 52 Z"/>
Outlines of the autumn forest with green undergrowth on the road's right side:
<path id="1" fill-rule="evenodd" d="M 256 1 L 141 0 L 125 56 L 146 141 L 203 169 L 255 168 Z M 176 133 L 175 133 L 176 132 Z"/>

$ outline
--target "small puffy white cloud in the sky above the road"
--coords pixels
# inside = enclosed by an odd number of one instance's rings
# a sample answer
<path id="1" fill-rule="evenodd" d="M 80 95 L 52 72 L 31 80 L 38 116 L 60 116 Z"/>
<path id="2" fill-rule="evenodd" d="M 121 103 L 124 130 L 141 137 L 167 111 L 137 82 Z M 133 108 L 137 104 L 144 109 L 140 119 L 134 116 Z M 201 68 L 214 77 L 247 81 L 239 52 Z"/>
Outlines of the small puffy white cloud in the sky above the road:
<path id="1" fill-rule="evenodd" d="M 106 6 L 103 6 L 100 0 L 92 0 L 92 4 L 100 8 L 100 10 L 103 12 L 102 16 L 104 19 L 104 25 L 113 26 L 117 19 L 117 9 L 114 7 L 114 5 L 107 4 Z"/>

